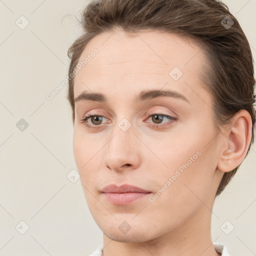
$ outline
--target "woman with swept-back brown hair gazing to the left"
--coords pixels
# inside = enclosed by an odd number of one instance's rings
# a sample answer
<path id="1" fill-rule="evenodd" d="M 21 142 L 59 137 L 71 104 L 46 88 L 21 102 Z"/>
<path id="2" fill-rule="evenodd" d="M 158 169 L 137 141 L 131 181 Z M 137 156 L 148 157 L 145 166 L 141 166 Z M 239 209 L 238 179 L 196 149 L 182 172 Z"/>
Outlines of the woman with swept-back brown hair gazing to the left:
<path id="1" fill-rule="evenodd" d="M 103 231 L 91 255 L 227 256 L 214 199 L 253 142 L 253 63 L 215 0 L 95 0 L 68 50 L 73 152 Z"/>

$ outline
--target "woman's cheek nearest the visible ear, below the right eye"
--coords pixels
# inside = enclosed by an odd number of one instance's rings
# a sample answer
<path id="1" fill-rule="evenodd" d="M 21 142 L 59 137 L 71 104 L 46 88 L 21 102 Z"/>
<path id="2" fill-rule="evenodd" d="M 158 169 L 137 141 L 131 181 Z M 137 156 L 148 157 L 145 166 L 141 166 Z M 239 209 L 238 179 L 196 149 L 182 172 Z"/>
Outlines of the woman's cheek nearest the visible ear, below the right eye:
<path id="1" fill-rule="evenodd" d="M 187 129 L 183 134 L 169 134 L 158 138 L 149 144 L 154 148 L 157 157 L 164 163 L 160 163 L 164 170 L 161 176 L 152 172 L 158 187 L 167 186 L 165 196 L 160 200 L 166 200 L 167 204 L 184 205 L 194 207 L 194 203 L 200 204 L 206 200 L 211 189 L 212 178 L 215 172 L 214 142 L 208 143 L 214 137 L 211 129 Z M 149 141 L 148 141 L 149 143 Z M 207 145 L 207 146 L 206 146 Z M 166 183 L 167 181 L 170 181 Z M 170 184 L 171 183 L 171 184 Z M 163 187 L 164 189 L 164 187 Z M 167 196 L 169 194 L 169 197 Z M 182 203 L 181 203 L 182 202 Z M 170 205 L 169 205 L 170 206 Z"/>

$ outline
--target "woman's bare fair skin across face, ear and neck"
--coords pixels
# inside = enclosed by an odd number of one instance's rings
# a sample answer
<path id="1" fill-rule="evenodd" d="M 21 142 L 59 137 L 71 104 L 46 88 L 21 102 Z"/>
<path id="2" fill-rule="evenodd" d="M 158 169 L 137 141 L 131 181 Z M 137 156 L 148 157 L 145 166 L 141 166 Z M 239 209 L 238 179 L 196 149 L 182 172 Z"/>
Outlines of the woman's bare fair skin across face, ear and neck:
<path id="1" fill-rule="evenodd" d="M 103 231 L 104 256 L 116 251 L 122 256 L 218 255 L 210 234 L 215 192 L 224 172 L 245 156 L 249 113 L 239 111 L 231 127 L 216 133 L 212 96 L 199 77 L 206 63 L 203 50 L 191 40 L 155 30 L 131 35 L 115 29 L 92 38 L 79 61 L 94 48 L 99 52 L 75 75 L 74 97 L 84 90 L 101 92 L 107 102 L 75 103 L 73 152 L 89 210 Z M 169 75 L 175 66 L 183 72 L 178 80 Z M 133 103 L 147 89 L 171 89 L 189 102 L 159 97 Z M 149 112 L 177 119 L 159 123 Z M 87 114 L 104 117 L 87 119 L 98 125 L 89 129 L 81 121 Z M 127 131 L 118 126 L 123 118 L 131 125 Z M 154 202 L 146 196 L 115 205 L 100 192 L 111 183 L 128 183 L 152 196 L 197 151 L 200 156 Z M 123 221 L 130 226 L 125 234 L 118 228 Z"/>

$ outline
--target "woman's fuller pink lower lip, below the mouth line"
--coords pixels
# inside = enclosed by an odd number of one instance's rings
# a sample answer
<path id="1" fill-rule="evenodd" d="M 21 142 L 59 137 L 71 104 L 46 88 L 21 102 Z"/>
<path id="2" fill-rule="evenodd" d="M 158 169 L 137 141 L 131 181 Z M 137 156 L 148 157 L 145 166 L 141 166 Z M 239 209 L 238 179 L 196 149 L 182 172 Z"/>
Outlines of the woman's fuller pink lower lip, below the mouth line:
<path id="1" fill-rule="evenodd" d="M 149 193 L 128 192 L 128 193 L 104 193 L 106 199 L 112 204 L 128 204 L 137 201 Z"/>

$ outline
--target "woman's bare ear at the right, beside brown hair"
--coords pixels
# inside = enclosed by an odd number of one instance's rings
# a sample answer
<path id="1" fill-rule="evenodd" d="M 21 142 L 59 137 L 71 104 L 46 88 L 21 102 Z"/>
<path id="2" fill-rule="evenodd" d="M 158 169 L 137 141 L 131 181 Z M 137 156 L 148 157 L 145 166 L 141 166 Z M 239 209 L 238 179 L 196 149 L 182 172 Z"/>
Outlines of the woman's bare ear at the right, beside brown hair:
<path id="1" fill-rule="evenodd" d="M 223 129 L 224 143 L 217 164 L 219 170 L 233 170 L 242 162 L 251 140 L 251 125 L 250 114 L 242 109 L 232 117 L 229 128 Z"/>

